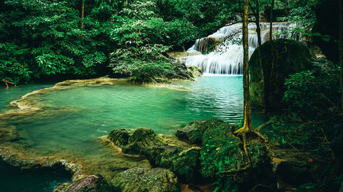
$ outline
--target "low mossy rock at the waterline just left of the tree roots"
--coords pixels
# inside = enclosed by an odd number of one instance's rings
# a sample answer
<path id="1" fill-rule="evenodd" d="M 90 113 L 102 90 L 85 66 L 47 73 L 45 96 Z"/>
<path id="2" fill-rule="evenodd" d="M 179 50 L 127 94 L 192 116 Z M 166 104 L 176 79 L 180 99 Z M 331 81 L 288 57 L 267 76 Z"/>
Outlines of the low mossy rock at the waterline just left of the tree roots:
<path id="1" fill-rule="evenodd" d="M 202 136 L 204 132 L 209 128 L 225 128 L 230 131 L 237 129 L 237 126 L 230 125 L 222 120 L 217 120 L 215 118 L 209 120 L 195 120 L 189 122 L 184 128 L 178 129 L 176 131 L 176 137 L 180 139 L 185 139 L 195 144 L 202 144 Z"/>

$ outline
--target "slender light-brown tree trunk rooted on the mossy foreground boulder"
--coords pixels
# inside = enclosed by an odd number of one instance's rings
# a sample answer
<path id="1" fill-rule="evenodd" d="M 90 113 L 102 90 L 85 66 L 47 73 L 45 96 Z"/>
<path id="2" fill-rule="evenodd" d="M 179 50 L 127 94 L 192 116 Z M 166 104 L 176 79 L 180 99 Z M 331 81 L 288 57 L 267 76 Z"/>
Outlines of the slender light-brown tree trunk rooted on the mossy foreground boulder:
<path id="1" fill-rule="evenodd" d="M 244 0 L 243 14 L 243 91 L 244 91 L 244 122 L 243 127 L 253 130 L 251 122 L 251 102 L 249 92 L 249 45 L 248 45 L 248 12 L 249 0 Z"/>

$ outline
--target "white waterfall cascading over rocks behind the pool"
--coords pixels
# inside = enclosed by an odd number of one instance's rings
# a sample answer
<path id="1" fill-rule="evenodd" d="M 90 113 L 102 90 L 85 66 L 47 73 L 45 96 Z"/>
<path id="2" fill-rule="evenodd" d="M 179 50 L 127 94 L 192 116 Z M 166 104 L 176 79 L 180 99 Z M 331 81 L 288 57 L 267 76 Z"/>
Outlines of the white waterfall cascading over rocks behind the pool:
<path id="1" fill-rule="evenodd" d="M 269 23 L 261 23 L 262 44 L 269 40 Z M 294 24 L 273 23 L 273 39 L 292 38 L 291 30 Z M 258 46 L 255 23 L 248 25 L 249 58 Z M 188 53 L 198 53 L 199 55 L 189 56 L 186 60 L 187 66 L 198 66 L 202 68 L 204 75 L 239 75 L 243 70 L 243 46 L 242 23 L 225 26 L 206 38 L 196 40 Z M 293 38 L 301 40 L 301 34 Z M 206 53 L 211 49 L 211 44 L 219 42 L 211 53 Z M 206 53 L 206 54 L 204 54 Z"/>

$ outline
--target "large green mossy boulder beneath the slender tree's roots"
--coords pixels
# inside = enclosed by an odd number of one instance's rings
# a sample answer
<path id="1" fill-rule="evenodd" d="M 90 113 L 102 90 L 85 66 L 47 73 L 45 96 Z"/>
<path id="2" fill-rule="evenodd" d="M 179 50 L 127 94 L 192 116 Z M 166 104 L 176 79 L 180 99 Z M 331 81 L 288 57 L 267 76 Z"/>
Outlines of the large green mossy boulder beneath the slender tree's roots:
<path id="1" fill-rule="evenodd" d="M 196 131 L 185 130 L 191 127 Z M 200 150 L 200 174 L 212 180 L 219 191 L 270 191 L 276 189 L 271 159 L 265 145 L 259 139 L 248 142 L 248 156 L 242 149 L 242 141 L 234 131 L 237 126 L 220 120 L 193 121 L 182 128 L 183 138 L 197 138 L 202 143 Z M 180 132 L 179 132 L 180 134 Z M 191 137 L 196 135 L 196 137 Z M 253 136 L 253 135 L 252 135 Z"/>

